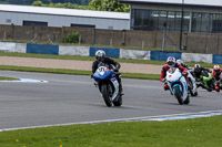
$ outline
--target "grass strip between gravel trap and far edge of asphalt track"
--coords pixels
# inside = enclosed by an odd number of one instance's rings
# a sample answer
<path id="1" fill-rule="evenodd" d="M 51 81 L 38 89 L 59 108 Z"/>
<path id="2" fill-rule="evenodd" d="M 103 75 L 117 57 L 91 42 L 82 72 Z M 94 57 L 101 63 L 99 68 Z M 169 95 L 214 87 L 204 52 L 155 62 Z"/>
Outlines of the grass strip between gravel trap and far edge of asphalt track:
<path id="1" fill-rule="evenodd" d="M 8 66 L 0 65 L 0 70 L 20 71 L 20 72 L 39 72 L 39 73 L 57 73 L 57 74 L 73 74 L 73 75 L 91 75 L 91 71 L 64 70 L 64 69 L 43 69 L 43 67 L 24 67 L 24 66 Z M 159 80 L 159 74 L 140 74 L 140 73 L 122 73 L 125 78 L 143 78 Z"/>

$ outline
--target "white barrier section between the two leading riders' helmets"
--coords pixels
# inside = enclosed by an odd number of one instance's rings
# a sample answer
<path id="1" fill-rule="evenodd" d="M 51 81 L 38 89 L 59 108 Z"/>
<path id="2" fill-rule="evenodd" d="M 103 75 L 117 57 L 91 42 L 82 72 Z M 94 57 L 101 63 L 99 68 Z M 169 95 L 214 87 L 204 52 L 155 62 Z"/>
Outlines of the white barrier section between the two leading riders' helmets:
<path id="1" fill-rule="evenodd" d="M 150 60 L 150 51 L 120 49 L 120 59 Z"/>

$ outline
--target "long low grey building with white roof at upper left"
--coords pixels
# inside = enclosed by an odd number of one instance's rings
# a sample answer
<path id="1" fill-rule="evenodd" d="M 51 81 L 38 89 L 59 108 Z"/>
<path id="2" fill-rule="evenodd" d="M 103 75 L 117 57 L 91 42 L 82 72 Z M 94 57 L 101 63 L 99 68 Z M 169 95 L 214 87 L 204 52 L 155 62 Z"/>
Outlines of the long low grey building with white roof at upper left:
<path id="1" fill-rule="evenodd" d="M 130 14 L 62 8 L 0 4 L 0 24 L 129 30 Z"/>

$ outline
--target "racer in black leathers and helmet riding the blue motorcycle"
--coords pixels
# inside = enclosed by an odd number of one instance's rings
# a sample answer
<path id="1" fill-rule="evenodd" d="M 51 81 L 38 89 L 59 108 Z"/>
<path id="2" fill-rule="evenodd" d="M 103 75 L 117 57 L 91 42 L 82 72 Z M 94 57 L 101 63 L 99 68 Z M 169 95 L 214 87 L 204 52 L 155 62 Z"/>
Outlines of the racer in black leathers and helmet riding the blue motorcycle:
<path id="1" fill-rule="evenodd" d="M 113 70 L 117 74 L 115 77 L 120 84 L 120 94 L 123 95 L 122 82 L 121 82 L 121 73 L 119 72 L 121 65 L 120 63 L 115 62 L 111 57 L 105 56 L 105 52 L 103 50 L 98 50 L 95 52 L 95 61 L 92 63 L 92 74 L 97 71 L 100 63 L 104 63 L 109 65 L 109 69 Z M 113 69 L 113 66 L 115 69 Z M 92 77 L 92 75 L 91 75 Z"/>

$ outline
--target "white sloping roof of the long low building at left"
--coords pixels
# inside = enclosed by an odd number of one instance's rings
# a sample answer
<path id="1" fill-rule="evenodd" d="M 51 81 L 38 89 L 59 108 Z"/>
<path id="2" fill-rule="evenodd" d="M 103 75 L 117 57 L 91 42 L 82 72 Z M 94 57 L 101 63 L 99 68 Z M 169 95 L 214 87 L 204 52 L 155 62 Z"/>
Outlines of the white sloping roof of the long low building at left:
<path id="1" fill-rule="evenodd" d="M 123 13 L 123 12 L 47 8 L 47 7 L 32 7 L 32 6 L 0 4 L 0 11 L 54 14 L 54 15 L 71 15 L 71 17 L 73 15 L 73 17 L 84 17 L 84 18 L 87 17 L 87 18 L 104 18 L 104 19 L 122 19 L 122 20 L 130 19 L 130 13 Z"/>

